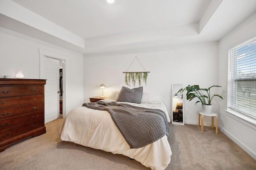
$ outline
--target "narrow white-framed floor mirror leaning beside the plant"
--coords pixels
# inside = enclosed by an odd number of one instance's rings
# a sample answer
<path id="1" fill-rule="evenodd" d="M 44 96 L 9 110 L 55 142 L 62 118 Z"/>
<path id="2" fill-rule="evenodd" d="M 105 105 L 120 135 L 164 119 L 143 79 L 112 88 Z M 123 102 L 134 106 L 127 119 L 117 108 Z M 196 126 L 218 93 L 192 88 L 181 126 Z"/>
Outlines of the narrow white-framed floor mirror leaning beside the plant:
<path id="1" fill-rule="evenodd" d="M 181 92 L 178 92 L 180 89 L 182 89 L 182 84 L 172 84 L 172 93 L 171 93 L 171 99 L 172 99 L 172 123 L 173 124 L 180 124 L 184 125 L 184 116 L 183 113 L 185 113 L 183 109 L 183 94 Z"/>

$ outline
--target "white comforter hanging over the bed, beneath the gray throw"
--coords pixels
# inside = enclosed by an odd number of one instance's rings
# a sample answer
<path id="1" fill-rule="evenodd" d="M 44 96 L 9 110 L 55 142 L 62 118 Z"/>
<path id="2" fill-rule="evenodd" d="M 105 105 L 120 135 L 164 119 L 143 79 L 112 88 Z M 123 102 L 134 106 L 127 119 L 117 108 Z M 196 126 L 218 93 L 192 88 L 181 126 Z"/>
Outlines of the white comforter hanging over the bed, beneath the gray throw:
<path id="1" fill-rule="evenodd" d="M 164 104 L 132 105 L 162 109 L 170 122 Z M 165 169 L 170 163 L 172 155 L 166 135 L 145 147 L 130 149 L 107 111 L 94 110 L 82 106 L 68 113 L 61 129 L 60 138 L 62 141 L 74 142 L 86 147 L 112 152 L 113 154 L 123 154 L 152 170 Z"/>

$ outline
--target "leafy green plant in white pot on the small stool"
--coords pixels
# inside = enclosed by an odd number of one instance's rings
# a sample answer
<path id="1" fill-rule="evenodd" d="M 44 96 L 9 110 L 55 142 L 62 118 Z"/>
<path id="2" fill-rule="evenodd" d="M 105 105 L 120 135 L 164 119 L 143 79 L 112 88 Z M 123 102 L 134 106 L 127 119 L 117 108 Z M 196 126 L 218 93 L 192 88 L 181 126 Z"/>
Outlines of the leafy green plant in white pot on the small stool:
<path id="1" fill-rule="evenodd" d="M 202 112 L 206 114 L 212 113 L 212 98 L 214 96 L 218 96 L 219 98 L 222 98 L 222 96 L 218 94 L 214 94 L 211 96 L 210 94 L 210 89 L 212 87 L 221 87 L 221 86 L 210 86 L 209 88 L 200 88 L 199 85 L 193 85 L 190 86 L 188 85 L 184 89 L 180 89 L 178 92 L 184 92 L 185 90 L 187 91 L 187 100 L 191 101 L 194 98 L 198 98 L 199 100 L 196 101 L 197 103 L 202 103 Z M 223 99 L 223 98 L 222 98 Z"/>

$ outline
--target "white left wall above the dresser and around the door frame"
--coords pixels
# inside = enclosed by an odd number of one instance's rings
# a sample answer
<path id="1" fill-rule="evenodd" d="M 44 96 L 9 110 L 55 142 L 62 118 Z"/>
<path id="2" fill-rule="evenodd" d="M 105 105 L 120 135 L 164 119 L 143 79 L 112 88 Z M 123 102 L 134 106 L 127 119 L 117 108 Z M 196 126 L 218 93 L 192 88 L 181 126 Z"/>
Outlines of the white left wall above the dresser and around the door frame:
<path id="1" fill-rule="evenodd" d="M 2 31 L 2 32 L 1 32 Z M 4 33 L 8 32 L 8 33 Z M 13 36 L 13 35 L 15 36 Z M 21 38 L 22 37 L 22 38 Z M 61 49 L 47 43 L 31 39 L 25 35 L 0 29 L 0 78 L 4 75 L 15 75 L 18 69 L 22 70 L 24 78 L 40 78 L 39 49 L 52 51 L 64 56 L 66 60 L 66 113 L 83 103 L 83 56 Z M 46 82 L 47 83 L 47 82 Z"/>

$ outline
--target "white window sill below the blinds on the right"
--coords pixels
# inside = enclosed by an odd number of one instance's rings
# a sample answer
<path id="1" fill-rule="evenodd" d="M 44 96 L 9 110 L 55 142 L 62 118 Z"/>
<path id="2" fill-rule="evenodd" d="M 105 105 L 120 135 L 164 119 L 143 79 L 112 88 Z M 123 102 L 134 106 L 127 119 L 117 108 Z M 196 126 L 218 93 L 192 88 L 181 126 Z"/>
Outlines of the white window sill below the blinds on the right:
<path id="1" fill-rule="evenodd" d="M 236 119 L 237 121 L 243 123 L 246 126 L 251 127 L 252 129 L 256 130 L 256 120 L 251 119 L 245 115 L 242 115 L 240 113 L 237 113 L 235 111 L 232 111 L 230 109 L 225 110 L 228 113 L 229 117 L 232 117 L 233 119 Z"/>

